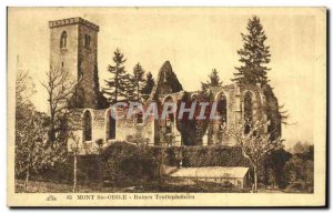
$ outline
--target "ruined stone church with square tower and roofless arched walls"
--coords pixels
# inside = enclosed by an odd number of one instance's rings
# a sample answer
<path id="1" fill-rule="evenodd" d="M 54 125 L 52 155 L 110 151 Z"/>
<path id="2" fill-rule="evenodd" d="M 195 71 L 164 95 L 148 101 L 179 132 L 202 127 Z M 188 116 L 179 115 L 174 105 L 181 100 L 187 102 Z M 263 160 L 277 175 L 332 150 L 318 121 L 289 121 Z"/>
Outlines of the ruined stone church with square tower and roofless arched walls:
<path id="1" fill-rule="evenodd" d="M 99 26 L 82 18 L 70 18 L 49 22 L 50 67 L 70 71 L 75 78 L 74 95 L 70 101 L 73 110 L 80 113 L 74 134 L 80 139 L 81 154 L 93 154 L 100 146 L 113 142 L 130 142 L 145 145 L 235 145 L 232 140 L 223 139 L 221 126 L 231 126 L 245 115 L 251 122 L 268 121 L 265 131 L 281 135 L 281 115 L 278 99 L 269 85 L 233 83 L 210 88 L 210 101 L 218 102 L 220 120 L 209 122 L 198 136 L 180 130 L 176 114 L 160 120 L 153 116 L 143 119 L 138 111 L 132 119 L 115 120 L 111 113 L 122 114 L 124 109 L 112 112 L 101 100 L 98 82 L 98 32 Z M 142 104 L 157 102 L 162 108 L 167 102 L 195 101 L 199 91 L 186 92 L 176 78 L 169 61 L 158 73 L 151 94 L 142 98 Z M 188 131 L 188 132 L 186 132 Z M 190 140 L 189 140 L 190 139 Z M 69 151 L 72 144 L 68 144 Z"/>

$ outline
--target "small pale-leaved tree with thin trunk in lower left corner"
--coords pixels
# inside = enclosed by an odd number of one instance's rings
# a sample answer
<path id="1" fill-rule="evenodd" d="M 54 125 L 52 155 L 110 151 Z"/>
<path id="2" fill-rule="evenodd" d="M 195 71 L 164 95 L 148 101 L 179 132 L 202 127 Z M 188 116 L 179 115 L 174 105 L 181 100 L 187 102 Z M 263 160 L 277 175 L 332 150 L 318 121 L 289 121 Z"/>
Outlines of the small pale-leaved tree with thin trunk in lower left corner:
<path id="1" fill-rule="evenodd" d="M 31 174 L 64 162 L 65 150 L 60 144 L 48 145 L 48 115 L 33 111 L 16 131 L 16 174 L 24 174 L 24 191 Z"/>

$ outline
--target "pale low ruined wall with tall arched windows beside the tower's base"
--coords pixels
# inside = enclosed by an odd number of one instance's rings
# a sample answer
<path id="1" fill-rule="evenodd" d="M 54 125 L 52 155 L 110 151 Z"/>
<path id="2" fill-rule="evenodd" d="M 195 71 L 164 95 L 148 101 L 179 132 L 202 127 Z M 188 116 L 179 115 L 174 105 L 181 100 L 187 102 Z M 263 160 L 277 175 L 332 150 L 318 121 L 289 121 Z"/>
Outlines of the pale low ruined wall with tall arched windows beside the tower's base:
<path id="1" fill-rule="evenodd" d="M 77 118 L 78 122 L 75 122 L 75 126 L 71 126 L 75 129 L 73 134 L 79 139 L 79 152 L 80 154 L 97 154 L 109 146 L 114 142 L 132 142 L 135 144 L 154 144 L 154 120 L 153 118 L 148 118 L 143 123 L 138 123 L 137 116 L 133 115 L 131 119 L 119 119 L 115 120 L 115 138 L 108 138 L 108 122 L 110 109 L 104 110 L 94 110 L 94 109 L 84 109 L 84 110 L 73 110 L 78 111 L 80 114 Z M 92 116 L 92 130 L 91 130 L 91 140 L 83 141 L 83 114 L 89 111 Z M 118 116 L 124 116 L 127 111 L 122 108 L 119 108 L 117 111 Z M 102 146 L 99 146 L 97 142 L 102 142 Z M 70 140 L 68 143 L 68 150 L 71 152 L 72 146 L 75 145 L 73 140 Z"/>

